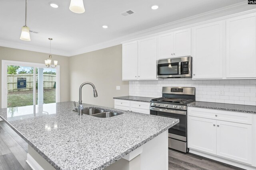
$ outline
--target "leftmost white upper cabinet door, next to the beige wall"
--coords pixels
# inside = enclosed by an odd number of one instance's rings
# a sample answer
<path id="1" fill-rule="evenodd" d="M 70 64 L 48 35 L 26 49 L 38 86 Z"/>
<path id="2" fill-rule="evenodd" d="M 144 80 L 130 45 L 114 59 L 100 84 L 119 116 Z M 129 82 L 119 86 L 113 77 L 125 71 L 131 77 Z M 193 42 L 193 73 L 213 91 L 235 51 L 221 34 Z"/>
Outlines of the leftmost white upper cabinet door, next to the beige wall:
<path id="1" fill-rule="evenodd" d="M 137 80 L 137 41 L 122 45 L 122 79 Z"/>

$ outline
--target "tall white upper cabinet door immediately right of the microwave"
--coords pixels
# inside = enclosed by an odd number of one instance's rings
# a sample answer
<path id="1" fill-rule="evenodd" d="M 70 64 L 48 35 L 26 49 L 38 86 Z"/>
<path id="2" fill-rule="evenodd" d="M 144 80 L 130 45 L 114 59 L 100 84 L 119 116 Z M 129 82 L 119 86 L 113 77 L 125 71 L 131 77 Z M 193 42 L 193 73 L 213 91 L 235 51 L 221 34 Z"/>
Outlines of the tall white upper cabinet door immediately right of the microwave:
<path id="1" fill-rule="evenodd" d="M 223 23 L 193 27 L 193 79 L 222 78 Z"/>

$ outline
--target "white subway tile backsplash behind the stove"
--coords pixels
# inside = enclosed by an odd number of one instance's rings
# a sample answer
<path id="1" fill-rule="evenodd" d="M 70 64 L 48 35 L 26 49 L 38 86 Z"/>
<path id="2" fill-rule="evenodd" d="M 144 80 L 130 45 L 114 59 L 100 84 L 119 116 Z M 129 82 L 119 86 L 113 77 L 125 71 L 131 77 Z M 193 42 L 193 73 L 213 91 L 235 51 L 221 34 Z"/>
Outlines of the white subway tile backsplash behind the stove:
<path id="1" fill-rule="evenodd" d="M 196 100 L 228 104 L 256 105 L 256 80 L 192 80 L 164 79 L 129 82 L 130 96 L 161 97 L 162 87 L 196 88 Z M 220 90 L 224 95 L 220 95 Z"/>

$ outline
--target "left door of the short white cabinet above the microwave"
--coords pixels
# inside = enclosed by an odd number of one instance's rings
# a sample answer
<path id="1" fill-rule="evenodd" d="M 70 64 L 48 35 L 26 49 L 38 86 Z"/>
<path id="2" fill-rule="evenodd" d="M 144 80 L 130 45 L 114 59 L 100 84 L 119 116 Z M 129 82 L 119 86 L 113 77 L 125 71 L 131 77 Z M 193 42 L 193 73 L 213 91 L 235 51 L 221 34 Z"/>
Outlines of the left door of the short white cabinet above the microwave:
<path id="1" fill-rule="evenodd" d="M 173 32 L 158 36 L 158 59 L 167 59 L 173 55 Z"/>

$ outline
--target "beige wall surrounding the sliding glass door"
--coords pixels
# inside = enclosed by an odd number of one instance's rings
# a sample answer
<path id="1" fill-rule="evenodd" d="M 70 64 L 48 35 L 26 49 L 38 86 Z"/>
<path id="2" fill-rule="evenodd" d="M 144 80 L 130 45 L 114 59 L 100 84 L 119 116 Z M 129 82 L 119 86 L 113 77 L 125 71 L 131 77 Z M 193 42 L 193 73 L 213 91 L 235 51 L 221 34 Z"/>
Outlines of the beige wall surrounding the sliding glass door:
<path id="1" fill-rule="evenodd" d="M 7 47 L 0 47 L 0 60 L 11 60 L 11 61 L 23 61 L 30 63 L 44 63 L 44 60 L 48 58 L 49 54 L 38 53 L 34 51 L 26 51 L 20 49 L 13 49 Z M 60 102 L 69 101 L 69 58 L 52 55 L 54 60 L 58 61 L 60 65 Z M 2 64 L 0 65 L 0 75 L 2 75 Z M 0 89 L 2 89 L 2 82 L 0 79 Z M 1 90 L 0 90 L 1 94 Z M 2 94 L 1 94 L 2 96 Z M 0 108 L 1 108 L 1 98 L 0 98 Z"/>

